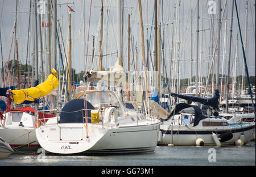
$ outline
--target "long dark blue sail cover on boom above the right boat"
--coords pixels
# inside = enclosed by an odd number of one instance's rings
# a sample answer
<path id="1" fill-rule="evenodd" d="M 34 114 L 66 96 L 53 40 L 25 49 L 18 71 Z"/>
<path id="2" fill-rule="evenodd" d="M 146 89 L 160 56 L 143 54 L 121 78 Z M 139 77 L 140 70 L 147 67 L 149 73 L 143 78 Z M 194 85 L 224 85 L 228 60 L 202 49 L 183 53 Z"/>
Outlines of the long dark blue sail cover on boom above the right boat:
<path id="1" fill-rule="evenodd" d="M 189 100 L 192 102 L 202 103 L 205 106 L 210 106 L 216 109 L 218 109 L 218 104 L 220 104 L 220 102 L 218 102 L 218 99 L 220 98 L 220 93 L 218 90 L 215 90 L 214 96 L 212 98 L 200 98 L 197 96 L 181 95 L 181 94 L 175 94 L 172 92 L 171 92 L 171 96 L 177 96 L 179 98 Z"/>

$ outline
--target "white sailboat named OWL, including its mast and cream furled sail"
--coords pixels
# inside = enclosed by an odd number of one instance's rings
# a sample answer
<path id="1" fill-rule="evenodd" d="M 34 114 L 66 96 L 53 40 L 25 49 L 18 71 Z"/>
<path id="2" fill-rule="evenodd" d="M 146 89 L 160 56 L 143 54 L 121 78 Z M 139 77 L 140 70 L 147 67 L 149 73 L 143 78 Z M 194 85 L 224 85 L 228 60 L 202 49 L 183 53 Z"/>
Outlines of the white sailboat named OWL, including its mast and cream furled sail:
<path id="1" fill-rule="evenodd" d="M 121 1 L 118 3 L 121 15 Z M 118 18 L 119 19 L 119 18 Z M 125 70 L 121 65 L 121 20 L 118 20 L 118 58 L 111 71 L 86 72 L 90 79 L 113 82 L 121 87 Z M 125 77 L 126 78 L 126 77 Z M 114 91 L 87 90 L 61 109 L 60 116 L 36 129 L 40 146 L 56 154 L 147 153 L 155 150 L 160 121 L 124 106 Z M 126 87 L 126 86 L 125 86 Z"/>

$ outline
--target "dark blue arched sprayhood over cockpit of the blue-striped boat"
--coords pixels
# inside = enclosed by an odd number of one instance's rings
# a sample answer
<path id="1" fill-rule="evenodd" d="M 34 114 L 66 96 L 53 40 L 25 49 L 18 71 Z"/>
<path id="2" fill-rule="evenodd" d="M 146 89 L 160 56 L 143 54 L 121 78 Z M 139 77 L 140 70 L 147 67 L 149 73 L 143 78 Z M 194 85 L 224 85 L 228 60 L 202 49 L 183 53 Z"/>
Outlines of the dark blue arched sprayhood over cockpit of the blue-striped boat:
<path id="1" fill-rule="evenodd" d="M 183 110 L 185 108 L 189 108 L 189 107 L 193 108 L 195 111 L 195 120 L 194 120 L 193 127 L 198 125 L 200 120 L 207 118 L 203 115 L 199 106 L 195 106 L 195 105 L 191 105 L 191 104 L 187 104 L 187 103 L 179 103 L 176 105 L 174 110 L 171 112 L 170 116 L 167 117 L 167 120 L 170 119 L 171 116 L 175 115 L 176 113 L 179 113 L 181 110 Z"/>

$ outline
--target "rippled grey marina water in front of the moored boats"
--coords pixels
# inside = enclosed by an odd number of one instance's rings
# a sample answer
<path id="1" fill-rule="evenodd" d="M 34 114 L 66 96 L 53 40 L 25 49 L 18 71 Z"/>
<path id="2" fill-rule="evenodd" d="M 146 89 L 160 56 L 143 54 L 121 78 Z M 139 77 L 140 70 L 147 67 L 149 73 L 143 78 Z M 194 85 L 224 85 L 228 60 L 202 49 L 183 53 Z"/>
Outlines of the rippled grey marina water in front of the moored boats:
<path id="1" fill-rule="evenodd" d="M 255 141 L 245 146 L 156 146 L 126 155 L 11 154 L 0 166 L 255 166 Z"/>

